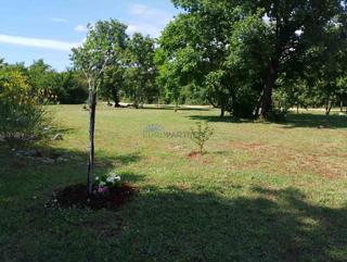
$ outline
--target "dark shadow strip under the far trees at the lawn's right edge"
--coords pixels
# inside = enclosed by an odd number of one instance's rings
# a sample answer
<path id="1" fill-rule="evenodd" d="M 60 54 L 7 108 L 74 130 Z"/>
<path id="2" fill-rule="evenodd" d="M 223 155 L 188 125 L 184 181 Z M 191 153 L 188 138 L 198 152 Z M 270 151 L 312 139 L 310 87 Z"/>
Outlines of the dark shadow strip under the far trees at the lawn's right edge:
<path id="1" fill-rule="evenodd" d="M 206 122 L 232 123 L 232 124 L 271 124 L 271 122 L 258 122 L 255 118 L 240 118 L 234 116 L 211 116 L 211 115 L 190 115 L 192 120 L 200 120 Z M 278 123 L 282 128 L 309 127 L 317 128 L 346 128 L 347 117 L 340 115 L 319 115 L 319 114 L 294 114 L 290 113 L 285 122 Z"/>

